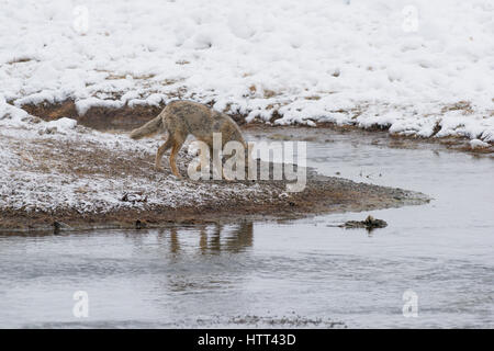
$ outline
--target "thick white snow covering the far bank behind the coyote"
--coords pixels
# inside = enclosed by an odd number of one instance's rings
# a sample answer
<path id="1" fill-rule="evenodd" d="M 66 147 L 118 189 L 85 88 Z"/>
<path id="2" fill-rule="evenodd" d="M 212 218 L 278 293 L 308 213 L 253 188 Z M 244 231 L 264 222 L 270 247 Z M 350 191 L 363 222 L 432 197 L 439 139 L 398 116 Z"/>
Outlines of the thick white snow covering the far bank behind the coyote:
<path id="1" fill-rule="evenodd" d="M 491 0 L 8 0 L 0 117 L 5 100 L 83 114 L 180 97 L 247 121 L 494 143 L 493 33 Z"/>

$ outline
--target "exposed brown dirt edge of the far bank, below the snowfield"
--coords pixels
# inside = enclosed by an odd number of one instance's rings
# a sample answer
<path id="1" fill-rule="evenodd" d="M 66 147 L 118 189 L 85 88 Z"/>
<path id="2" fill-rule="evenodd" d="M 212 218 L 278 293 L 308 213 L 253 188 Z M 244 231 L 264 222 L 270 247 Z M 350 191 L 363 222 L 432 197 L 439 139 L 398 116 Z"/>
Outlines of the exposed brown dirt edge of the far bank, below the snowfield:
<path id="1" fill-rule="evenodd" d="M 214 102 L 210 103 L 213 105 Z M 55 121 L 61 117 L 69 117 L 77 120 L 80 125 L 101 131 L 117 131 L 126 132 L 136 128 L 147 121 L 154 118 L 164 109 L 165 104 L 157 105 L 124 105 L 121 107 L 109 106 L 92 106 L 88 109 L 85 114 L 79 114 L 76 103 L 69 99 L 59 103 L 38 103 L 38 104 L 23 104 L 20 105 L 25 112 L 38 116 L 44 121 Z M 460 111 L 468 113 L 468 104 L 458 104 L 445 109 L 447 111 Z M 350 113 L 348 111 L 347 113 Z M 273 135 L 273 138 L 278 134 L 283 134 L 282 138 L 290 138 L 287 136 L 285 131 L 292 131 L 290 134 L 294 135 L 294 138 L 303 139 L 304 136 L 311 138 L 324 138 L 327 131 L 337 133 L 362 133 L 364 135 L 372 136 L 380 139 L 379 143 L 385 143 L 390 147 L 414 147 L 415 145 L 440 145 L 444 148 L 464 151 L 471 154 L 485 154 L 494 157 L 494 144 L 493 143 L 476 143 L 468 137 L 446 135 L 440 136 L 441 127 L 438 125 L 435 131 L 437 137 L 419 137 L 417 135 L 406 135 L 403 133 L 393 133 L 390 131 L 390 126 L 382 125 L 369 125 L 368 127 L 359 126 L 358 124 L 345 124 L 338 125 L 330 122 L 318 122 L 315 126 L 307 126 L 305 124 L 294 125 L 276 125 L 276 121 L 280 118 L 278 114 L 273 114 L 269 123 L 261 121 L 252 121 L 246 123 L 247 115 L 242 113 L 229 114 L 235 122 L 240 125 L 244 131 L 263 131 L 268 135 Z"/>

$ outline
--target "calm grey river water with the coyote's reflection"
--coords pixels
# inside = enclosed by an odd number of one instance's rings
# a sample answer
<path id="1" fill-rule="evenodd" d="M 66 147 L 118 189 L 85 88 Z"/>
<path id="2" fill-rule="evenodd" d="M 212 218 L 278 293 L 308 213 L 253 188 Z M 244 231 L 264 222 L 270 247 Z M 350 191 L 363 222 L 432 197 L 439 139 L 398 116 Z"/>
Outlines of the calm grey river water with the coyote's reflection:
<path id="1" fill-rule="evenodd" d="M 330 138 L 307 145 L 308 166 L 435 200 L 282 223 L 0 235 L 0 327 L 493 328 L 493 160 Z M 336 227 L 368 214 L 389 226 Z"/>

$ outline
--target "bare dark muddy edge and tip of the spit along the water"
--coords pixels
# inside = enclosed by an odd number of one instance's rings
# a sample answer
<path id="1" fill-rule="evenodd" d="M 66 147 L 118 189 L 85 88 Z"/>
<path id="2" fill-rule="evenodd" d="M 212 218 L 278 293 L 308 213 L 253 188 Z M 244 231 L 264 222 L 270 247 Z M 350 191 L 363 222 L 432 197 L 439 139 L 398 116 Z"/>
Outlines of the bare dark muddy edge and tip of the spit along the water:
<path id="1" fill-rule="evenodd" d="M 272 188 L 284 181 L 263 181 Z M 199 206 L 149 206 L 108 213 L 80 213 L 64 208 L 54 212 L 2 208 L 0 231 L 67 231 L 101 228 L 144 229 L 170 224 L 236 223 L 240 220 L 287 220 L 324 213 L 363 212 L 405 205 L 420 205 L 430 199 L 418 192 L 357 183 L 325 177 L 308 169 L 303 192 L 288 199 L 255 203 L 232 197 L 229 202 L 211 202 Z"/>

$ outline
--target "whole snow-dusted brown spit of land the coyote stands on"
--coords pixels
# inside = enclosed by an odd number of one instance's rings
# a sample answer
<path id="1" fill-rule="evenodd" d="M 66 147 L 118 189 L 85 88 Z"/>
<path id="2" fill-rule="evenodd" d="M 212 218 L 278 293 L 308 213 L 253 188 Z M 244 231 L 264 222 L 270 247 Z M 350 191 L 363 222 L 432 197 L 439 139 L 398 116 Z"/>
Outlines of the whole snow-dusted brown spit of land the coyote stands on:
<path id="1" fill-rule="evenodd" d="M 420 193 L 323 177 L 312 169 L 306 170 L 305 189 L 292 193 L 287 180 L 179 180 L 167 162 L 162 171 L 154 170 L 162 143 L 158 138 L 136 141 L 125 133 L 98 132 L 66 117 L 45 122 L 11 115 L 0 124 L 0 230 L 297 218 L 428 201 Z M 178 158 L 182 174 L 191 159 L 184 147 Z"/>

